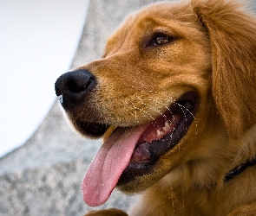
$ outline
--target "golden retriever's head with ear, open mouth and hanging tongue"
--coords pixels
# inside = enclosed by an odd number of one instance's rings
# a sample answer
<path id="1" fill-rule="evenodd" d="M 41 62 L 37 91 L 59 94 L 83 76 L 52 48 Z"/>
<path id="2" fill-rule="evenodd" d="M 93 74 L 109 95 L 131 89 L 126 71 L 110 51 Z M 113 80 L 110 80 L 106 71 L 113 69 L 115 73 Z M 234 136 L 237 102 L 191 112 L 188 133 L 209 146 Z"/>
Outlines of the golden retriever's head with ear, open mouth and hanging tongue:
<path id="1" fill-rule="evenodd" d="M 83 181 L 89 205 L 116 185 L 144 190 L 255 124 L 254 25 L 230 1 L 156 3 L 123 22 L 102 59 L 56 80 L 75 130 L 105 134 Z"/>

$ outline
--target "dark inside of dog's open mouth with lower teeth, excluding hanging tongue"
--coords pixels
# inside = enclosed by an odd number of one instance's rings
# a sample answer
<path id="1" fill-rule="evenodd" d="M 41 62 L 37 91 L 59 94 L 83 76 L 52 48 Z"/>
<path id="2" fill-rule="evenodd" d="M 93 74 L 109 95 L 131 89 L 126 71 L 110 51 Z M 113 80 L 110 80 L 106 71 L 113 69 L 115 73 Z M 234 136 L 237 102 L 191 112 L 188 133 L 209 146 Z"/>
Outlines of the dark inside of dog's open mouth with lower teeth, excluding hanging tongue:
<path id="1" fill-rule="evenodd" d="M 135 145 L 127 168 L 117 185 L 125 184 L 139 175 L 149 173 L 160 156 L 173 149 L 187 133 L 194 120 L 196 96 L 189 92 L 156 118 L 143 131 Z"/>

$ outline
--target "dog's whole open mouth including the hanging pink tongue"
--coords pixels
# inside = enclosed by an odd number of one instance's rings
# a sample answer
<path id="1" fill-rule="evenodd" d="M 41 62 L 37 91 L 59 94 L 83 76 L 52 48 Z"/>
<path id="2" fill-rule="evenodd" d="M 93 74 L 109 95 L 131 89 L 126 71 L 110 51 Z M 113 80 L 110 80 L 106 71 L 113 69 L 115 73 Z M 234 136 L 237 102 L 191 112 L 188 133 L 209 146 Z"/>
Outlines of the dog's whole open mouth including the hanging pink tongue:
<path id="1" fill-rule="evenodd" d="M 82 181 L 83 199 L 102 205 L 116 185 L 148 175 L 159 158 L 180 143 L 194 121 L 198 97 L 187 92 L 148 124 L 117 127 L 102 144 Z"/>

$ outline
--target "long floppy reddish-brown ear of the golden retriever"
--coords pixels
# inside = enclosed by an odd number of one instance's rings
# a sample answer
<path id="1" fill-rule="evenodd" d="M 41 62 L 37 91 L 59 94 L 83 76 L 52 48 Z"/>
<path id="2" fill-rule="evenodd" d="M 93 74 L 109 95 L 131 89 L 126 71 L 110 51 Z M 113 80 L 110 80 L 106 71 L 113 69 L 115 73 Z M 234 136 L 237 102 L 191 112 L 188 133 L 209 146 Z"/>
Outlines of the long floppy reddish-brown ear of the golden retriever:
<path id="1" fill-rule="evenodd" d="M 192 0 L 212 46 L 213 98 L 231 137 L 256 123 L 256 19 L 228 0 Z"/>

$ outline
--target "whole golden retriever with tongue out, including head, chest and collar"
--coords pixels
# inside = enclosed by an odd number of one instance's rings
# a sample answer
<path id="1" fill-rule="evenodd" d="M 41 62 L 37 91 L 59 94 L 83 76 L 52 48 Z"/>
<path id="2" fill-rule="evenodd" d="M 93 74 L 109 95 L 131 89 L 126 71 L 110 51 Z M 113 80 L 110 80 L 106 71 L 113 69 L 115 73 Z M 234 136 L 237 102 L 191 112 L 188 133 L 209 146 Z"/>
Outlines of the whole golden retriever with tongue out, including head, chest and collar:
<path id="1" fill-rule="evenodd" d="M 240 3 L 148 5 L 55 87 L 75 130 L 104 140 L 83 200 L 141 193 L 129 214 L 86 215 L 256 215 L 256 18 Z"/>

